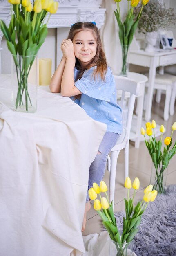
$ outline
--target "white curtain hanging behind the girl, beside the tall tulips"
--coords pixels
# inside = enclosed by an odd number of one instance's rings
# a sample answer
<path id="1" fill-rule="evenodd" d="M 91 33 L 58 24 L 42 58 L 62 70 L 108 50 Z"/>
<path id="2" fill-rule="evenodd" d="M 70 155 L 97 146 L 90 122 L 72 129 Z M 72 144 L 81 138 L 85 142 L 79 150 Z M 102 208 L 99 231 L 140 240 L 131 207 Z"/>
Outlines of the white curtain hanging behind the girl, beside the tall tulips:
<path id="1" fill-rule="evenodd" d="M 114 15 L 116 3 L 114 0 L 103 0 L 102 8 L 106 8 L 105 24 L 100 29 L 102 44 L 105 50 L 107 62 L 113 74 L 119 74 L 122 64 L 120 40 L 118 37 L 118 24 Z M 127 13 L 128 1 L 120 2 L 120 14 L 122 20 Z"/>

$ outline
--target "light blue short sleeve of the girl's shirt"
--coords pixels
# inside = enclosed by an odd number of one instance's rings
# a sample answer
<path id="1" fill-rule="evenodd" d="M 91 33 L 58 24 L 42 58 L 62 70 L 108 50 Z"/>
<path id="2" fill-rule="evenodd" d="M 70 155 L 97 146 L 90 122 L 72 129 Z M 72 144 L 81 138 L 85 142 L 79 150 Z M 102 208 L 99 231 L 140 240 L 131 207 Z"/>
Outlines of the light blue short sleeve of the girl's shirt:
<path id="1" fill-rule="evenodd" d="M 94 79 L 94 76 L 92 76 L 94 68 L 96 67 L 91 67 L 89 70 L 86 70 L 82 78 L 75 82 L 75 86 L 89 97 L 110 101 L 111 95 L 114 92 L 114 86 L 112 86 L 114 84 L 114 77 L 111 69 L 110 67 L 107 68 L 105 81 L 103 81 L 100 74 Z"/>

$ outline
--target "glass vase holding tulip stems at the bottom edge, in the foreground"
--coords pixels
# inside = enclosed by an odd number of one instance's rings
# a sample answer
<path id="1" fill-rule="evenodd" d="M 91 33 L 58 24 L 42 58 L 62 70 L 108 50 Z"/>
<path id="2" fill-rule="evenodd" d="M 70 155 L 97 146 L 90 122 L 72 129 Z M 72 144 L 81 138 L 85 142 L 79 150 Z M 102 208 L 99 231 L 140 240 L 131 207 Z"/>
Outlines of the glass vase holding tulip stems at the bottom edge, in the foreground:
<path id="1" fill-rule="evenodd" d="M 129 249 L 131 242 L 119 244 L 110 239 L 109 256 L 135 256 L 136 254 Z"/>

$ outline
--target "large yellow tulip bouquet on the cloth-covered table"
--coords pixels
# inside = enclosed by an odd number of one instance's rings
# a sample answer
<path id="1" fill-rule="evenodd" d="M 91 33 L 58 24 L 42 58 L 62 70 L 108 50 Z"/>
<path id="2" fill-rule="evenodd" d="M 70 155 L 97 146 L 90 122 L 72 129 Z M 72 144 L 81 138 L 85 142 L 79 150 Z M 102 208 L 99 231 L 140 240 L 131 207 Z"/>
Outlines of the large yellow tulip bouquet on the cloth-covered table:
<path id="1" fill-rule="evenodd" d="M 0 28 L 7 40 L 7 47 L 13 56 L 16 66 L 18 92 L 16 109 L 23 105 L 22 95 L 25 92 L 26 111 L 30 95 L 27 88 L 27 77 L 33 61 L 47 36 L 47 24 L 44 24 L 47 13 L 56 13 L 58 2 L 53 0 L 8 0 L 11 4 L 11 21 L 9 27 L 0 20 Z M 48 18 L 48 20 L 49 20 Z M 47 20 L 47 22 L 48 22 Z M 26 58 L 29 56 L 29 58 Z"/>

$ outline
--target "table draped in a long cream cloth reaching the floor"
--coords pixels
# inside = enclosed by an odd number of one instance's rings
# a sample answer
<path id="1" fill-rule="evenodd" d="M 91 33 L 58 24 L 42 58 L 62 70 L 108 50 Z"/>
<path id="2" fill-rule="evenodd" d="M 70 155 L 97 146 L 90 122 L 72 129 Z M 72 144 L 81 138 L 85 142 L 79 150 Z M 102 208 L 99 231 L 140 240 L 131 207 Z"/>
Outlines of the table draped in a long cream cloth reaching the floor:
<path id="1" fill-rule="evenodd" d="M 79 256 L 89 166 L 106 125 L 48 86 L 34 114 L 9 109 L 9 93 L 0 75 L 0 254 Z"/>

